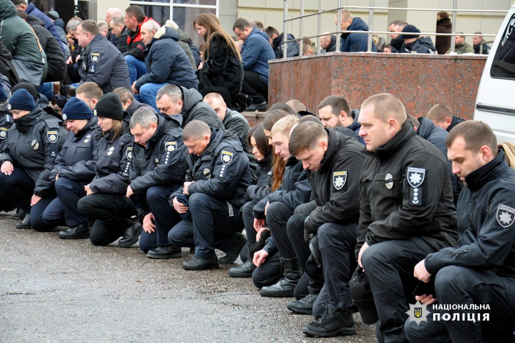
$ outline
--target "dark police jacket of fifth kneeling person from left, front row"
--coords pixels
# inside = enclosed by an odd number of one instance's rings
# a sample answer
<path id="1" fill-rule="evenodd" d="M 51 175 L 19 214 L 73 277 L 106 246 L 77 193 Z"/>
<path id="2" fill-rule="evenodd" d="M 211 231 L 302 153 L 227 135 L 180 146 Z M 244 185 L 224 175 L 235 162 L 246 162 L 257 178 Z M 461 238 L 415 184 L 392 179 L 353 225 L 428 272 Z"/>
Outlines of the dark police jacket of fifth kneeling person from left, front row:
<path id="1" fill-rule="evenodd" d="M 211 141 L 204 151 L 199 156 L 187 155 L 186 178 L 195 181 L 188 186 L 188 193 L 204 193 L 239 208 L 252 184 L 249 159 L 235 135 L 223 129 L 211 130 Z M 180 187 L 170 200 L 182 190 Z"/>

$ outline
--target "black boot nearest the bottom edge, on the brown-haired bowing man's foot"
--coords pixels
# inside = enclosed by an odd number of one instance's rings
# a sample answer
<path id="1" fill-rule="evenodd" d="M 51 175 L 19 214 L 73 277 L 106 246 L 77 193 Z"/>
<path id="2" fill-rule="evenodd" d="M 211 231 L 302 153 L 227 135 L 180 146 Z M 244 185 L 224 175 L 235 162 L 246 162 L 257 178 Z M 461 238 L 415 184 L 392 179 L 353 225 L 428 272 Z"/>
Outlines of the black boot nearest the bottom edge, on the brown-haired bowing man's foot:
<path id="1" fill-rule="evenodd" d="M 339 310 L 336 306 L 328 305 L 327 310 L 318 320 L 304 325 L 302 333 L 314 337 L 354 335 L 356 327 L 350 311 Z"/>

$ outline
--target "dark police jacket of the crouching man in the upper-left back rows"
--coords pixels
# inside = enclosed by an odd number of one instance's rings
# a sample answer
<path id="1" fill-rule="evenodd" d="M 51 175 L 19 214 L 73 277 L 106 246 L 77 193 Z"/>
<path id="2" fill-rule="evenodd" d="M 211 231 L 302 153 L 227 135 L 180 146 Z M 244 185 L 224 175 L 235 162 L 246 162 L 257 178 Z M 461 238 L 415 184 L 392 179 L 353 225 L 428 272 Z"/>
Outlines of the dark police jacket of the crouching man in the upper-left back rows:
<path id="1" fill-rule="evenodd" d="M 100 33 L 80 54 L 78 66 L 80 82 L 95 82 L 104 94 L 118 87 L 131 87 L 124 56 Z"/>

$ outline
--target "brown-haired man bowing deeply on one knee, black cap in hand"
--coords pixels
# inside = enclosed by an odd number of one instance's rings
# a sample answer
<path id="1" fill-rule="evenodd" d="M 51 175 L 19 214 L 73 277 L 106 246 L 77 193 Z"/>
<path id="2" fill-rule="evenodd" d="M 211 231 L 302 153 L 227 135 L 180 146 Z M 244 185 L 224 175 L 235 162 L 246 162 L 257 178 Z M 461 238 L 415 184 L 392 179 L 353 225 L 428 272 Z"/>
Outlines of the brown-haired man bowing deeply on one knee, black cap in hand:
<path id="1" fill-rule="evenodd" d="M 304 325 L 310 336 L 330 337 L 356 332 L 349 280 L 356 267 L 359 177 L 365 157 L 355 138 L 323 128 L 321 123 L 299 124 L 290 135 L 289 150 L 311 170 L 312 201 L 299 205 L 286 226 L 304 271 L 308 294 L 289 302 L 297 313 L 313 311 L 315 321 Z M 318 238 L 323 268 L 308 268 L 311 235 Z M 323 270 L 322 270 L 323 269 Z"/>

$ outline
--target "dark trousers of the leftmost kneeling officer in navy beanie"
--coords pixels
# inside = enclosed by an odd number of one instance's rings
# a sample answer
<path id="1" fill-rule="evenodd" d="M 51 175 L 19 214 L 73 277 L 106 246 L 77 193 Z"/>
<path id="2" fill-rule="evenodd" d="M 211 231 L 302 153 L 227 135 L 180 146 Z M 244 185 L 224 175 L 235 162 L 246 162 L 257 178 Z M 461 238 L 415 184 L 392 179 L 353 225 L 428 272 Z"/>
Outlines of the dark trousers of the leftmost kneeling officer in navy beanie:
<path id="1" fill-rule="evenodd" d="M 50 190 L 50 194 L 30 206 L 30 199 L 34 194 L 34 182 L 22 168 L 14 167 L 11 175 L 0 173 L 0 196 L 7 199 L 14 207 L 20 208 L 25 213 L 30 213 L 30 226 L 37 231 L 50 231 L 55 226 L 49 226 L 43 221 L 43 211 L 54 200 L 56 194 Z"/>

